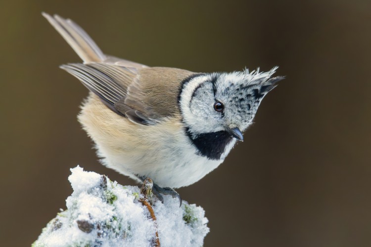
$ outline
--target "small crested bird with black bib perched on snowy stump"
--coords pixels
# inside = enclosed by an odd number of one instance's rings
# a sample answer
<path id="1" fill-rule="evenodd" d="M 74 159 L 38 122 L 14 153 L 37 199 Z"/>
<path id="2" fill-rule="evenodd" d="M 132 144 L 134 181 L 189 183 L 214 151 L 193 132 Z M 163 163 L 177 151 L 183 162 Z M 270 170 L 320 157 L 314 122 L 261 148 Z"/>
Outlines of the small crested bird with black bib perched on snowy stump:
<path id="1" fill-rule="evenodd" d="M 104 54 L 75 22 L 42 13 L 83 60 L 60 66 L 89 89 L 78 121 L 103 165 L 178 197 L 243 140 L 262 99 L 282 76 L 244 69 L 195 73 Z"/>

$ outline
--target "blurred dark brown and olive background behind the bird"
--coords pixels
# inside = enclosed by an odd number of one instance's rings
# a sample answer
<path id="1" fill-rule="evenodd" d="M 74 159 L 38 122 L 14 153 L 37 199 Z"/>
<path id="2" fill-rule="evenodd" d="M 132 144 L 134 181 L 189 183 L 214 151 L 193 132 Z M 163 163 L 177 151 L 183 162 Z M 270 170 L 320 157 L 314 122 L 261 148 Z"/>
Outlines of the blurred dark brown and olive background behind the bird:
<path id="1" fill-rule="evenodd" d="M 100 165 L 76 120 L 88 90 L 58 69 L 78 56 L 41 16 L 75 20 L 107 54 L 195 72 L 286 75 L 245 141 L 179 189 L 203 206 L 205 246 L 371 246 L 371 2 L 2 1 L 0 239 L 30 246 Z"/>

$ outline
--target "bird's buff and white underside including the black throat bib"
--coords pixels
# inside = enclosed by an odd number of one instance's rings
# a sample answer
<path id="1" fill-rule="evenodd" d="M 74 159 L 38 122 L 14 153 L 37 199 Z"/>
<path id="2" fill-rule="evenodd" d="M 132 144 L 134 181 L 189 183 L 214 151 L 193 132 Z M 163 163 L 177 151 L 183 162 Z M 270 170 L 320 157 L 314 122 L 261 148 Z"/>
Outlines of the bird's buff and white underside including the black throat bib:
<path id="1" fill-rule="evenodd" d="M 150 177 L 162 187 L 197 182 L 224 161 L 235 142 L 218 132 L 192 141 L 180 116 L 154 125 L 134 124 L 95 96 L 83 105 L 79 121 L 104 165 L 132 178 Z"/>

